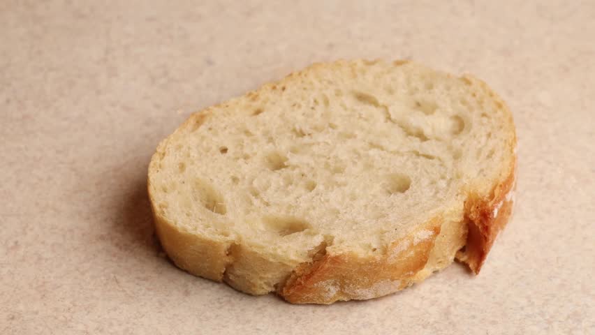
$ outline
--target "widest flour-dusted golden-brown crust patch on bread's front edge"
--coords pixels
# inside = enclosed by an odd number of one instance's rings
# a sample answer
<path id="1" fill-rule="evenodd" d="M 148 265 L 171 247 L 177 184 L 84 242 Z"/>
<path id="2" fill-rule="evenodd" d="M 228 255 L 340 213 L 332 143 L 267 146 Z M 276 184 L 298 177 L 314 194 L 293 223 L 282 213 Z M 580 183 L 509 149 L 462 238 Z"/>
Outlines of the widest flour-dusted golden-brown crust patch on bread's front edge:
<path id="1" fill-rule="evenodd" d="M 402 290 L 425 267 L 441 223 L 441 218 L 435 218 L 429 226 L 393 242 L 386 253 L 375 258 L 360 258 L 355 253 L 321 255 L 293 271 L 277 293 L 295 304 L 331 304 Z"/>

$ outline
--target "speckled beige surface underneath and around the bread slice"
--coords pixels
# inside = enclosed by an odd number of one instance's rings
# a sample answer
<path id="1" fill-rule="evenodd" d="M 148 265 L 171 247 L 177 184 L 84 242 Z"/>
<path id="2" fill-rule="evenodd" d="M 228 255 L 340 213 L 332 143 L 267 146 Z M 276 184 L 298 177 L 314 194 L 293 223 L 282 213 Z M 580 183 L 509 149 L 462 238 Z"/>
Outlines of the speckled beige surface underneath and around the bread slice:
<path id="1" fill-rule="evenodd" d="M 594 334 L 593 1 L 109 2 L 0 1 L 0 334 Z M 474 73 L 508 101 L 517 207 L 481 274 L 292 306 L 161 257 L 157 142 L 200 107 L 346 57 Z"/>

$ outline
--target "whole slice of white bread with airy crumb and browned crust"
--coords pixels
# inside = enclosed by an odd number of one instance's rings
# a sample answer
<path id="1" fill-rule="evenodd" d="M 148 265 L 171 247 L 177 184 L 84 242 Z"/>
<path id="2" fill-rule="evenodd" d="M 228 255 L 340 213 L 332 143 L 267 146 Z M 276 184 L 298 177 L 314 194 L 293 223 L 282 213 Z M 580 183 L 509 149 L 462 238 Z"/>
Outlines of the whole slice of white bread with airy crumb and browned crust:
<path id="1" fill-rule="evenodd" d="M 193 114 L 149 165 L 191 274 L 294 303 L 476 273 L 513 205 L 515 129 L 483 82 L 409 61 L 315 64 Z"/>

